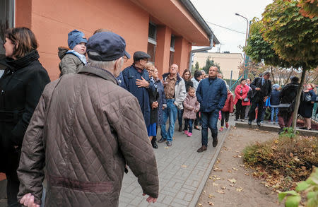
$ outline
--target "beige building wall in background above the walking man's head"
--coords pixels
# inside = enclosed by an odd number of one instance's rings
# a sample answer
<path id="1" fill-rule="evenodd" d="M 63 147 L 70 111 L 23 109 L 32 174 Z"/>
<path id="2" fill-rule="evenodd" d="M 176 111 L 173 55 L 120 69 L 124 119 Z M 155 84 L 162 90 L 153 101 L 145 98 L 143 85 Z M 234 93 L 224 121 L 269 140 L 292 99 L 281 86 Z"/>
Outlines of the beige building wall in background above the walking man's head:
<path id="1" fill-rule="evenodd" d="M 194 54 L 193 64 L 195 66 L 196 61 L 199 63 L 199 67 L 203 68 L 206 65 L 206 59 L 210 57 L 215 63 L 220 65 L 220 71 L 223 73 L 224 79 L 230 79 L 231 71 L 232 79 L 239 77 L 238 67 L 242 65 L 244 59 L 240 53 L 218 53 L 218 52 L 198 52 Z"/>

